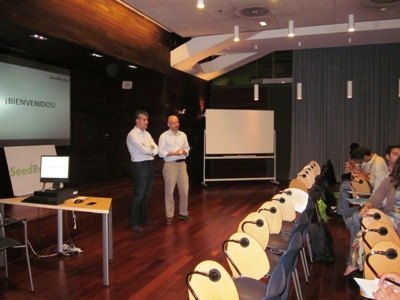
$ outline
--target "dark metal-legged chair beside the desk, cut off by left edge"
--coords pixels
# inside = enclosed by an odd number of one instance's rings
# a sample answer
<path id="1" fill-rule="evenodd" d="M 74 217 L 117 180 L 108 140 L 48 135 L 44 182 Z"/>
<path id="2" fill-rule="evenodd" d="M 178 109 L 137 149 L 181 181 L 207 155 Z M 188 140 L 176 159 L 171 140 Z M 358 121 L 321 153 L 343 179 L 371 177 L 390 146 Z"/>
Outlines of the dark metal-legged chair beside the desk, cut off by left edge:
<path id="1" fill-rule="evenodd" d="M 18 241 L 16 239 L 8 238 L 6 236 L 6 229 L 15 226 L 17 224 L 23 224 L 24 228 L 24 240 Z M 28 228 L 27 228 L 27 220 L 21 219 L 7 219 L 7 221 L 3 222 L 2 215 L 0 213 L 0 230 L 1 230 L 1 236 L 0 236 L 0 252 L 4 253 L 4 267 L 6 271 L 6 278 L 8 278 L 8 263 L 7 263 L 7 251 L 12 250 L 12 249 L 17 249 L 17 248 L 25 248 L 25 256 L 26 256 L 26 263 L 28 265 L 28 271 L 29 271 L 29 280 L 31 284 L 31 291 L 34 291 L 33 288 L 33 280 L 32 280 L 32 271 L 31 271 L 31 264 L 29 261 L 29 252 L 28 252 Z"/>

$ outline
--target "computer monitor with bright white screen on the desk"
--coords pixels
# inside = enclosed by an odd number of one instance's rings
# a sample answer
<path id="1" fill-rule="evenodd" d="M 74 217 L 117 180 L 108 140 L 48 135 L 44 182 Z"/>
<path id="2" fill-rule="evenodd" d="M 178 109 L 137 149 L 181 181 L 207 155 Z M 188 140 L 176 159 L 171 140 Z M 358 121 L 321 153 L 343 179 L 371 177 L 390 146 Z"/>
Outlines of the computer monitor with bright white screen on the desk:
<path id="1" fill-rule="evenodd" d="M 42 155 L 40 182 L 53 183 L 53 189 L 60 188 L 60 183 L 69 182 L 69 156 Z"/>

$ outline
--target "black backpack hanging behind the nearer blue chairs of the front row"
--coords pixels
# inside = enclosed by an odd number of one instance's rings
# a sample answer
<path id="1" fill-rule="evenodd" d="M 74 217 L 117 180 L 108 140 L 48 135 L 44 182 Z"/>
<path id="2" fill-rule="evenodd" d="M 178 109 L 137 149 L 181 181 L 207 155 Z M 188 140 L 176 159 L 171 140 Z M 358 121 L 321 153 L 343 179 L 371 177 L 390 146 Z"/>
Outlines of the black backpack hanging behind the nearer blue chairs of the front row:
<path id="1" fill-rule="evenodd" d="M 313 260 L 323 263 L 333 262 L 335 260 L 333 241 L 326 225 L 320 222 L 310 223 L 308 234 Z"/>

